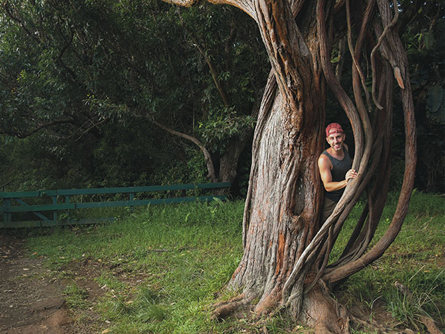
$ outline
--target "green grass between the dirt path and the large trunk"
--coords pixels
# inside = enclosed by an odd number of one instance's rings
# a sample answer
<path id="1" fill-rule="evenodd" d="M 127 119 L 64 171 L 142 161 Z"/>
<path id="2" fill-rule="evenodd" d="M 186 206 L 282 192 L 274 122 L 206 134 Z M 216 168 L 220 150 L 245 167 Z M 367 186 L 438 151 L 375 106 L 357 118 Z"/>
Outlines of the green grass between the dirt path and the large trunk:
<path id="1" fill-rule="evenodd" d="M 242 214 L 239 201 L 153 206 L 109 225 L 56 229 L 29 247 L 53 269 L 104 264 L 95 309 L 110 333 L 222 333 L 233 324 L 213 324 L 209 305 L 241 260 Z"/>

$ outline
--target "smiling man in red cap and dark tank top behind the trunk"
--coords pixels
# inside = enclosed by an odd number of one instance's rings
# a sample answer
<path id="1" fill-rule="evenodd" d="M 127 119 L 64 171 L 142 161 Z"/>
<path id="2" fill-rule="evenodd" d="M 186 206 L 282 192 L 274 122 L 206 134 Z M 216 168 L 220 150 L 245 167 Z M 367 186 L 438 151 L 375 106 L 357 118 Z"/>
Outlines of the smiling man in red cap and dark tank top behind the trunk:
<path id="1" fill-rule="evenodd" d="M 348 181 L 357 177 L 357 172 L 351 169 L 353 161 L 350 159 L 348 146 L 344 143 L 346 136 L 341 125 L 331 123 L 327 125 L 325 132 L 330 148 L 323 151 L 318 158 L 318 169 L 325 187 L 321 208 L 322 224 L 334 211 Z"/>

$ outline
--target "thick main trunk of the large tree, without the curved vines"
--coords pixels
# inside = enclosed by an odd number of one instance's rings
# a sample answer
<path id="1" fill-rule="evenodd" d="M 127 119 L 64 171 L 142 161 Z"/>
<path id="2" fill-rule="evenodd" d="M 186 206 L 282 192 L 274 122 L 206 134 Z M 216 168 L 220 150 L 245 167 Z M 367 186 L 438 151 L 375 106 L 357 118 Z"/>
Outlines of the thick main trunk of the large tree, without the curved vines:
<path id="1" fill-rule="evenodd" d="M 321 308 L 328 298 L 303 291 L 309 277 L 315 275 L 315 257 L 286 285 L 319 228 L 322 189 L 316 161 L 325 143 L 325 81 L 318 62 L 315 8 L 307 8 L 302 17 L 305 31 L 300 32 L 295 21 L 286 18 L 292 15 L 286 4 L 283 1 L 283 8 L 260 15 L 275 77 L 269 78 L 254 135 L 243 218 L 244 255 L 229 284 L 243 287 L 248 299 L 260 298 L 254 309 L 257 313 L 270 312 L 289 301 L 294 317 L 304 307 L 305 314 L 314 311 L 312 319 L 323 317 L 326 323 L 328 318 L 338 318 L 330 314 L 335 308 Z M 297 67 L 297 63 L 306 66 Z M 321 326 L 318 321 L 310 325 Z"/>

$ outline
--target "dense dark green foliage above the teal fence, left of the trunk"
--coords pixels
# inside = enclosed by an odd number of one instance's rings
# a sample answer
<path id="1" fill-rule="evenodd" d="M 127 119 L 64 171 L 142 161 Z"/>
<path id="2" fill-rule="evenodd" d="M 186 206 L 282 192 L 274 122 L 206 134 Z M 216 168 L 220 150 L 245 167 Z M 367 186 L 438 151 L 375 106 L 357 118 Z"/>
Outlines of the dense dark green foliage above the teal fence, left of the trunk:
<path id="1" fill-rule="evenodd" d="M 259 32 L 239 10 L 198 7 L 8 1 L 0 13 L 0 133 L 38 131 L 33 158 L 54 168 L 34 173 L 33 189 L 48 181 L 81 188 L 202 180 L 194 144 L 153 129 L 152 119 L 197 136 L 216 166 L 227 141 L 250 131 L 268 72 Z M 8 169 L 29 175 L 30 158 L 15 155 L 24 166 L 9 159 Z M 17 179 L 6 174 L 5 182 Z"/>

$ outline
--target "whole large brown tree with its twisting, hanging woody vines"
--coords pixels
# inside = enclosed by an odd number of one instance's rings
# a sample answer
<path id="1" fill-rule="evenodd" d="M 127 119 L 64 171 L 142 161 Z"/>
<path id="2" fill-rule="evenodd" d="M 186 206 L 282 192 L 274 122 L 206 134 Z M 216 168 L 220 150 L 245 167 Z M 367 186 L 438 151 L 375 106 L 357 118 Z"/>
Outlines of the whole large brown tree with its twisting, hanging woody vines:
<path id="1" fill-rule="evenodd" d="M 192 6 L 193 0 L 171 0 Z M 348 328 L 346 313 L 328 292 L 380 257 L 407 212 L 416 165 L 416 134 L 407 57 L 396 31 L 398 3 L 388 0 L 216 0 L 241 8 L 257 22 L 272 70 L 257 120 L 243 218 L 243 258 L 229 282 L 242 288 L 220 305 L 223 317 L 258 301 L 254 312 L 286 308 L 318 333 Z M 334 43 L 346 35 L 353 96 L 332 67 Z M 369 64 L 371 95 L 363 66 Z M 405 175 L 396 213 L 384 236 L 368 248 L 387 198 L 393 79 L 405 111 Z M 330 218 L 319 225 L 321 153 L 328 87 L 350 120 L 357 178 Z M 371 117 L 371 118 L 370 118 Z M 375 182 L 378 180 L 378 182 Z M 341 227 L 366 190 L 368 205 L 343 255 L 328 258 Z M 336 312 L 337 311 L 337 312 Z"/>

